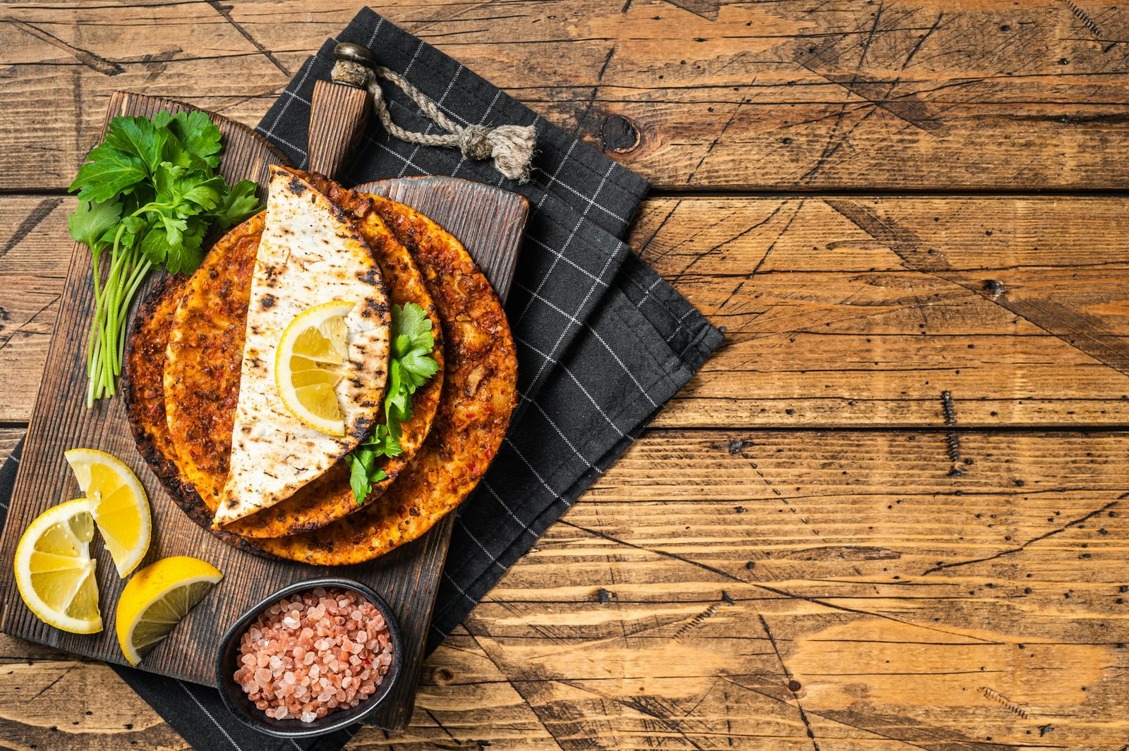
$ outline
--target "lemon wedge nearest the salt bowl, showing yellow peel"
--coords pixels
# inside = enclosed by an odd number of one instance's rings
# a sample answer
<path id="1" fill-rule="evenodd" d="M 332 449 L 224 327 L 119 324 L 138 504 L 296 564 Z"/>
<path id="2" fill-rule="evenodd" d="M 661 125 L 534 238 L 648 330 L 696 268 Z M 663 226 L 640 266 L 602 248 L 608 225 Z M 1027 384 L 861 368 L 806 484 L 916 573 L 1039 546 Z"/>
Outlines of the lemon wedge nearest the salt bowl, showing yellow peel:
<path id="1" fill-rule="evenodd" d="M 117 600 L 115 619 L 130 664 L 141 662 L 221 578 L 210 563 L 189 556 L 161 558 L 134 574 Z"/>

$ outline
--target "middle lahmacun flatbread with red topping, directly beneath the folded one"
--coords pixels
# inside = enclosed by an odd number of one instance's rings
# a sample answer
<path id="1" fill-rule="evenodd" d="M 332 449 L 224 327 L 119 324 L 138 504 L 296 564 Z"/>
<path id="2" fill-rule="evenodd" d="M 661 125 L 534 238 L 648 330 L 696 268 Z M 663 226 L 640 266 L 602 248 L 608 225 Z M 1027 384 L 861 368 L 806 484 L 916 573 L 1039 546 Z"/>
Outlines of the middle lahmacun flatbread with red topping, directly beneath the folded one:
<path id="1" fill-rule="evenodd" d="M 336 187 L 321 176 L 296 174 L 316 180 L 323 192 Z M 177 465 L 181 475 L 191 487 L 202 491 L 200 496 L 210 512 L 215 512 L 218 505 L 219 489 L 227 477 L 251 274 L 262 227 L 263 215 L 260 214 L 231 230 L 212 247 L 181 297 L 176 317 L 170 323 L 169 346 L 165 355 L 165 408 L 168 413 L 165 435 L 172 434 L 173 443 L 180 449 Z M 360 230 L 384 272 L 390 299 L 401 306 L 408 302 L 419 304 L 432 321 L 436 341 L 432 357 L 441 368 L 439 319 L 411 256 L 375 213 L 360 223 Z M 135 348 L 140 351 L 151 346 L 154 336 L 165 333 L 161 329 L 147 334 Z M 160 360 L 156 362 L 159 364 Z M 387 477 L 373 483 L 366 503 L 371 503 L 385 492 L 422 444 L 435 417 L 441 388 L 440 370 L 415 392 L 412 418 L 401 426 L 402 453 L 386 458 L 379 465 Z M 200 459 L 189 463 L 185 457 Z M 240 537 L 278 537 L 317 529 L 360 507 L 349 486 L 348 467 L 338 462 L 291 497 L 226 529 Z M 205 514 L 194 509 L 191 515 L 199 521 Z"/>

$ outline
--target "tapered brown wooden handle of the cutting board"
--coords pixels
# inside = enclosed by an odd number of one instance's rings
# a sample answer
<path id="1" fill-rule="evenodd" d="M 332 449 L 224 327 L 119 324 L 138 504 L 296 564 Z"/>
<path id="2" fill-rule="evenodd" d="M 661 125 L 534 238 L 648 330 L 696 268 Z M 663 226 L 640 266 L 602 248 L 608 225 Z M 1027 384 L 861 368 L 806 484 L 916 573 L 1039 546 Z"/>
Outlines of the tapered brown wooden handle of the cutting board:
<path id="1" fill-rule="evenodd" d="M 365 132 L 368 91 L 345 83 L 317 81 L 309 106 L 309 164 L 326 177 L 339 173 Z"/>

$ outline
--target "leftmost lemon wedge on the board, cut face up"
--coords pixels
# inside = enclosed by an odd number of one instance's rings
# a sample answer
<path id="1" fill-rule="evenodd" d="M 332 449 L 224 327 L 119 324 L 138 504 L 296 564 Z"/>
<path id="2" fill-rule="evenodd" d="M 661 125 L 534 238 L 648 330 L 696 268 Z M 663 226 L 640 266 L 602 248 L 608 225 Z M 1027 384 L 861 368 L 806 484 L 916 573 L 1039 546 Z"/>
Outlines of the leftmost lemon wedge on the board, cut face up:
<path id="1" fill-rule="evenodd" d="M 35 518 L 16 545 L 16 586 L 35 617 L 72 634 L 102 630 L 90 558 L 93 504 L 77 498 Z"/>

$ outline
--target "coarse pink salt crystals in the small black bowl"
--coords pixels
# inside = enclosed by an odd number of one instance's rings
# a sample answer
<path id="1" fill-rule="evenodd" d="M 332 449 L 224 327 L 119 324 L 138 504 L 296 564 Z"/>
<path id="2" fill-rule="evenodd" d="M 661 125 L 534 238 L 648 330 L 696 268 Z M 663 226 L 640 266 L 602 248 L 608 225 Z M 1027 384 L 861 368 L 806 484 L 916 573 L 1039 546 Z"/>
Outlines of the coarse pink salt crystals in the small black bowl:
<path id="1" fill-rule="evenodd" d="M 268 716 L 310 723 L 371 696 L 392 657 L 376 606 L 348 590 L 316 587 L 255 620 L 240 639 L 234 678 Z"/>

